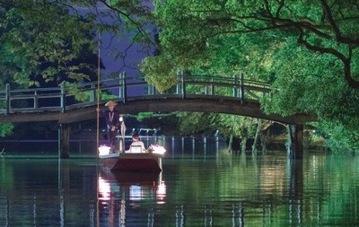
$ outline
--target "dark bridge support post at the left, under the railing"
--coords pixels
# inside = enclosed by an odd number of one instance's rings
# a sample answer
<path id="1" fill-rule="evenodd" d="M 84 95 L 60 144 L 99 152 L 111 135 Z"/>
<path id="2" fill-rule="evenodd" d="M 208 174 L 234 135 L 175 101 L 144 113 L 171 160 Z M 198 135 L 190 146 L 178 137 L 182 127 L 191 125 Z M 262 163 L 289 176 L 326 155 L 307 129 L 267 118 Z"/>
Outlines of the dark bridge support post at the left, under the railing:
<path id="1" fill-rule="evenodd" d="M 59 123 L 58 131 L 58 157 L 60 159 L 70 158 L 70 125 Z"/>

